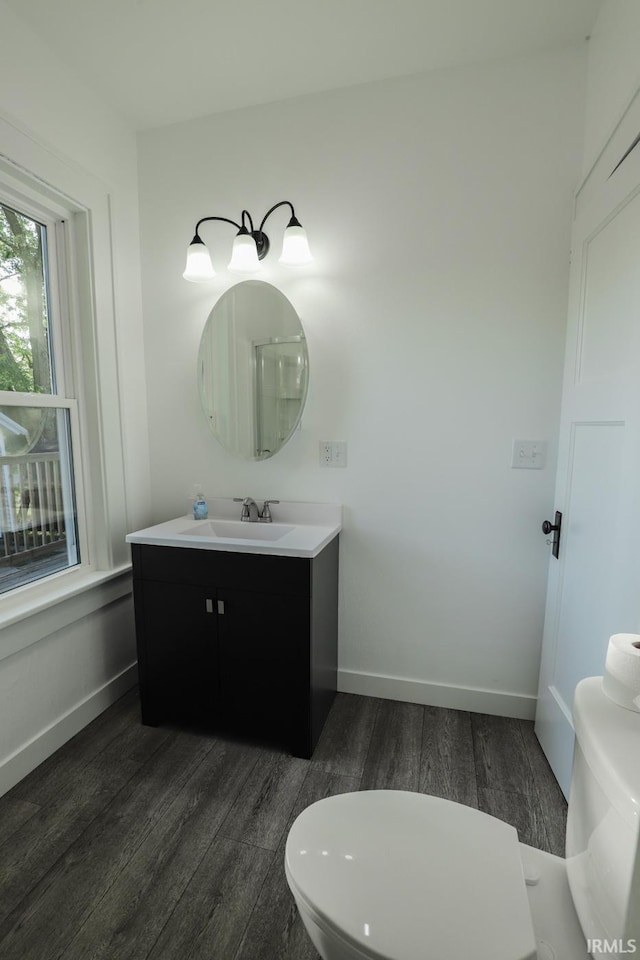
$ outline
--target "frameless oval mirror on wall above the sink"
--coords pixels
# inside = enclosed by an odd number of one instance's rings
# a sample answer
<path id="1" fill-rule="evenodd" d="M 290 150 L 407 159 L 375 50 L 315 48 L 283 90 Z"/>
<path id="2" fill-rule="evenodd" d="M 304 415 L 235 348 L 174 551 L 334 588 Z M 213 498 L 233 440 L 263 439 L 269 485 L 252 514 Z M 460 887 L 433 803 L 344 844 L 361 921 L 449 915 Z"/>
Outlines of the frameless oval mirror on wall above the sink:
<path id="1" fill-rule="evenodd" d="M 309 358 L 300 318 L 283 293 L 245 280 L 224 293 L 202 334 L 198 386 L 217 440 L 244 460 L 267 460 L 297 427 Z"/>

